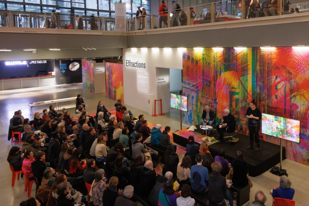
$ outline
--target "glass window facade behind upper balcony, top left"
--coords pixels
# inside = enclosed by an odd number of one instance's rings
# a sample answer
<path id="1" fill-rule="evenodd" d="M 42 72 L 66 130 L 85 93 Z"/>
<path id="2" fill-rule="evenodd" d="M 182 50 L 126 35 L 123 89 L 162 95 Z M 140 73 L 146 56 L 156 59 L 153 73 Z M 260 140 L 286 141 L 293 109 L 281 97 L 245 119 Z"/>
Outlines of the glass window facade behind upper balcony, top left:
<path id="1" fill-rule="evenodd" d="M 115 17 L 115 3 L 125 3 L 127 17 L 135 16 L 137 7 L 145 7 L 150 14 L 150 0 L 0 0 L 0 10 L 61 13 Z"/>

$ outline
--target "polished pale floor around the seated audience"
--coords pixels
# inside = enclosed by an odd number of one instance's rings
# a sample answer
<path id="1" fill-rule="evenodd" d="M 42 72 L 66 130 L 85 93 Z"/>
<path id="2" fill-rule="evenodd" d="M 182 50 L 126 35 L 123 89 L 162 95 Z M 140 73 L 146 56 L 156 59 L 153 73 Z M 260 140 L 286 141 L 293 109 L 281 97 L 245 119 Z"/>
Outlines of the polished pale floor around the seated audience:
<path id="1" fill-rule="evenodd" d="M 0 119 L 0 154 L 2 156 L 0 164 L 1 174 L 1 187 L 0 196 L 2 205 L 19 205 L 22 200 L 27 199 L 27 192 L 24 191 L 24 178 L 16 180 L 15 187 L 11 187 L 12 173 L 9 165 L 6 161 L 7 154 L 13 145 L 21 146 L 18 143 L 11 144 L 11 141 L 7 141 L 7 132 L 9 127 L 9 120 L 14 115 L 14 111 L 22 110 L 22 115 L 25 118 L 30 117 L 30 107 L 27 103 L 37 101 L 47 101 L 52 99 L 62 99 L 68 97 L 76 97 L 77 94 L 81 94 L 84 101 L 87 103 L 86 109 L 89 113 L 96 112 L 96 105 L 99 100 L 102 100 L 107 109 L 114 109 L 115 101 L 106 98 L 105 93 L 92 94 L 82 89 L 64 89 L 64 86 L 69 85 L 56 85 L 56 86 L 44 86 L 34 87 L 27 89 L 15 89 L 0 91 L 0 111 L 2 118 Z M 127 106 L 127 105 L 126 105 Z M 34 107 L 33 111 L 39 111 L 42 113 L 44 108 L 48 109 L 49 105 Z M 68 108 L 72 115 L 75 115 L 75 101 L 61 103 L 61 107 Z M 144 114 L 145 119 L 155 123 L 162 124 L 163 126 L 170 126 L 172 131 L 180 129 L 180 112 L 178 110 L 171 110 L 164 116 L 153 117 L 148 115 L 148 112 L 139 110 L 137 108 L 127 106 L 129 110 L 133 112 L 135 116 Z M 186 128 L 187 125 L 183 125 Z M 307 175 L 309 174 L 309 167 L 290 161 L 283 161 L 283 169 L 286 169 L 289 174 L 289 179 L 292 181 L 292 187 L 295 189 L 294 200 L 296 206 L 306 206 L 309 203 L 309 180 Z M 266 206 L 271 205 L 271 196 L 269 191 L 273 186 L 279 184 L 279 177 L 265 172 L 257 177 L 251 177 L 253 187 L 250 192 L 250 202 L 254 200 L 254 194 L 258 190 L 262 190 L 267 196 Z M 35 186 L 32 187 L 31 196 L 35 194 Z"/>

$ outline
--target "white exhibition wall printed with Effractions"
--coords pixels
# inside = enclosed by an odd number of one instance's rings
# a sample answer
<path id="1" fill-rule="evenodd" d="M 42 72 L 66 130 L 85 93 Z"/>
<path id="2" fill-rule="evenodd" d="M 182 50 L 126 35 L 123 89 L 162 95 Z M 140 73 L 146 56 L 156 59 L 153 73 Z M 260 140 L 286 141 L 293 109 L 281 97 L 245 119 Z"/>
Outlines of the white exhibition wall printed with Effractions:
<path id="1" fill-rule="evenodd" d="M 156 68 L 166 68 L 167 71 L 170 68 L 182 69 L 183 49 L 124 48 L 122 52 L 125 104 L 152 114 L 148 109 L 148 94 L 153 94 L 154 99 L 160 99 L 156 81 L 160 75 Z M 168 112 L 169 108 L 162 110 Z"/>

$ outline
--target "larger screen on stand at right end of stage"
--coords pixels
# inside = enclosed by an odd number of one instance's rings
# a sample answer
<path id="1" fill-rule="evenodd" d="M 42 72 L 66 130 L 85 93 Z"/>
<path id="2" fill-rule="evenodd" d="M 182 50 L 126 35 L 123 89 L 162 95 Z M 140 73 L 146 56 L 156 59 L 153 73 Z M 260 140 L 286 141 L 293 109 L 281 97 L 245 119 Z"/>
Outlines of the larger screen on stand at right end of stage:
<path id="1" fill-rule="evenodd" d="M 299 143 L 300 121 L 262 113 L 262 133 Z"/>

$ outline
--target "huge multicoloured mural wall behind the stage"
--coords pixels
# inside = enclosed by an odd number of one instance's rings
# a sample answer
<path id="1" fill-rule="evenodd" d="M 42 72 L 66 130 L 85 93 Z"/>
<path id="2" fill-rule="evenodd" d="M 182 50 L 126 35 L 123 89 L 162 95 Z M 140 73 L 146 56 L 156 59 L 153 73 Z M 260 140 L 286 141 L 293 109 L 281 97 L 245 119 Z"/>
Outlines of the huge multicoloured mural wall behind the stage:
<path id="1" fill-rule="evenodd" d="M 309 165 L 309 48 L 188 48 L 183 53 L 183 122 L 196 125 L 205 105 L 217 113 L 229 109 L 237 132 L 248 135 L 245 113 L 257 101 L 261 112 L 301 121 L 300 144 L 283 141 L 286 157 Z M 260 135 L 262 135 L 260 133 Z M 280 144 L 279 138 L 263 135 Z"/>

